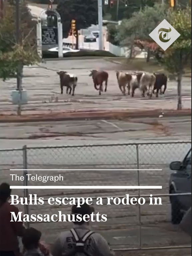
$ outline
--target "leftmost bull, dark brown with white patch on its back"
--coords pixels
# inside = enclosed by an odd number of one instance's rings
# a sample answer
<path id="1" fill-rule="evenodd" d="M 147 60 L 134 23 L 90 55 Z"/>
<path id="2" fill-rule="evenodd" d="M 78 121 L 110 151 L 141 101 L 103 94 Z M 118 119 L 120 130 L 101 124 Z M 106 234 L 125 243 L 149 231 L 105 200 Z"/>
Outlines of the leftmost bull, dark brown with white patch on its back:
<path id="1" fill-rule="evenodd" d="M 67 87 L 66 94 L 71 94 L 72 96 L 75 95 L 75 88 L 77 86 L 77 77 L 75 75 L 69 74 L 66 71 L 59 71 L 57 74 L 60 77 L 60 87 L 61 87 L 61 94 L 63 94 L 63 87 Z"/>

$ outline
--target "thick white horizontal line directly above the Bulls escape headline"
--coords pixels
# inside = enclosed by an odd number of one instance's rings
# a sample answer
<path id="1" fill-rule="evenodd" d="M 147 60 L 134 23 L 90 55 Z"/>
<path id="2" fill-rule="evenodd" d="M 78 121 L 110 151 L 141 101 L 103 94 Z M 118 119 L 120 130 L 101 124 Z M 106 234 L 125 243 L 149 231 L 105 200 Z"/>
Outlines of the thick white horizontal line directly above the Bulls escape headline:
<path id="1" fill-rule="evenodd" d="M 162 186 L 10 186 L 11 189 L 162 189 Z"/>

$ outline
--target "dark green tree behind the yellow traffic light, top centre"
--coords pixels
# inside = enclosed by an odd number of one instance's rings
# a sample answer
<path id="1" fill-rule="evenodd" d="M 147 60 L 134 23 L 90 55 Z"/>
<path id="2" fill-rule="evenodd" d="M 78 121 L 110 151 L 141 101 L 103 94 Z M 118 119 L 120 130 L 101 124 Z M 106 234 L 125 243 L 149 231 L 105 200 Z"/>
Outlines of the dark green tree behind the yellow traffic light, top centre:
<path id="1" fill-rule="evenodd" d="M 79 47 L 78 30 L 86 29 L 98 22 L 98 7 L 95 0 L 60 0 L 57 12 L 63 24 L 63 37 L 68 37 L 71 20 L 76 20 L 76 48 Z"/>

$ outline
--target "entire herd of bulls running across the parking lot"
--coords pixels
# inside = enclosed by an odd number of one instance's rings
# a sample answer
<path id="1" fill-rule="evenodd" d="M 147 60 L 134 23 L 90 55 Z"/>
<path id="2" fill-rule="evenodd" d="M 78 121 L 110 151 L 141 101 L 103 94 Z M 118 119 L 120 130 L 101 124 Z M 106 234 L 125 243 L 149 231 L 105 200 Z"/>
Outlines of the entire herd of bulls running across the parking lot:
<path id="1" fill-rule="evenodd" d="M 75 88 L 77 86 L 78 78 L 66 71 L 57 72 L 60 77 L 61 94 L 63 94 L 63 87 L 66 87 L 66 93 L 74 96 Z M 99 95 L 103 92 L 103 83 L 105 83 L 105 92 L 107 91 L 109 74 L 106 71 L 92 70 L 89 74 L 93 79 L 94 88 L 99 91 Z M 148 73 L 148 72 L 121 72 L 116 71 L 118 87 L 123 93 L 131 94 L 134 97 L 136 89 L 141 91 L 142 97 L 146 95 L 151 98 L 156 92 L 156 97 L 164 94 L 167 88 L 167 76 L 163 73 Z M 164 90 L 162 87 L 164 86 Z"/>

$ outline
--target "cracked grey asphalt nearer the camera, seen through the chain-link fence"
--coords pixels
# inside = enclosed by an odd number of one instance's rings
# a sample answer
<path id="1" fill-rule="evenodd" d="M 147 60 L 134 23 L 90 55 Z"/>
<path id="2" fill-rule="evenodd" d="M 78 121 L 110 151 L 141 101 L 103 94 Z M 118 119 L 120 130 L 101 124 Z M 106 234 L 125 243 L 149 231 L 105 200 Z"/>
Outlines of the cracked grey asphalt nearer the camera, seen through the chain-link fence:
<path id="1" fill-rule="evenodd" d="M 126 145 L 130 142 L 152 141 L 166 143 L 173 142 L 175 138 L 191 140 L 191 119 L 133 119 L 127 121 L 102 120 L 97 121 L 65 121 L 57 123 L 20 123 L 1 124 L 1 148 L 56 146 L 54 149 L 30 148 L 27 150 L 27 162 L 30 169 L 68 169 L 63 171 L 30 171 L 31 174 L 58 175 L 62 174 L 65 181 L 56 185 L 137 185 L 137 171 L 112 170 L 112 169 L 136 169 L 136 146 Z M 159 128 L 158 128 L 159 127 Z M 161 129 L 160 129 L 161 127 Z M 164 128 L 163 128 L 164 127 Z M 168 129 L 168 130 L 167 130 Z M 167 132 L 169 133 L 167 134 Z M 63 132 L 65 136 L 59 134 Z M 73 135 L 72 135 L 73 133 Z M 42 138 L 46 134 L 46 138 Z M 41 135 L 38 137 L 38 135 Z M 52 137 L 55 135 L 55 137 Z M 59 135 L 59 136 L 57 136 Z M 185 136 L 186 135 L 186 136 Z M 49 137 L 50 136 L 50 137 Z M 3 138 L 2 138 L 3 137 Z M 84 140 L 86 138 L 86 140 Z M 114 144 L 110 146 L 110 144 Z M 115 145 L 121 143 L 123 145 Z M 74 145 L 95 144 L 94 146 L 75 147 Z M 105 145 L 101 145 L 105 144 Z M 61 148 L 59 146 L 65 147 Z M 71 147 L 67 147 L 71 145 Z M 170 170 L 169 163 L 172 160 L 182 159 L 191 144 L 157 144 L 139 146 L 139 168 L 162 169 L 162 171 L 141 171 L 141 185 L 162 185 L 162 191 L 146 190 L 141 194 L 167 193 Z M 1 180 L 12 185 L 23 185 L 22 182 L 12 182 L 9 169 L 22 168 L 22 151 L 0 151 Z M 108 171 L 89 171 L 87 169 L 110 169 Z M 72 171 L 69 169 L 77 169 Z M 78 169 L 84 169 L 83 171 Z M 16 173 L 16 172 L 15 172 Z M 17 171 L 22 175 L 21 171 Z M 29 185 L 42 185 L 39 182 L 29 182 Z M 55 185 L 45 183 L 44 185 Z M 22 196 L 23 191 L 13 191 Z M 137 190 L 30 190 L 38 196 L 65 195 L 70 197 L 98 197 L 98 196 L 125 196 L 138 195 Z M 147 197 L 146 197 L 147 200 Z M 148 203 L 141 207 L 142 213 L 142 245 L 143 246 L 170 246 L 190 243 L 185 234 L 177 232 L 178 227 L 170 224 L 170 205 L 168 197 L 162 197 L 163 206 L 149 206 Z M 106 214 L 106 223 L 93 223 L 94 229 L 102 233 L 113 248 L 138 247 L 139 226 L 138 206 L 103 205 L 97 206 L 96 211 Z M 70 213 L 69 207 L 51 207 L 45 203 L 43 206 L 30 206 L 30 213 L 55 214 L 59 210 Z M 69 228 L 69 223 L 33 223 L 39 228 L 46 242 L 51 243 L 56 234 Z M 182 237 L 182 239 L 181 239 Z"/>

